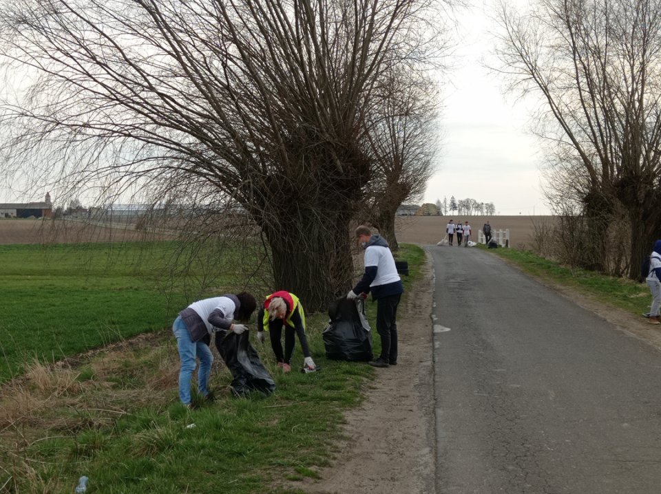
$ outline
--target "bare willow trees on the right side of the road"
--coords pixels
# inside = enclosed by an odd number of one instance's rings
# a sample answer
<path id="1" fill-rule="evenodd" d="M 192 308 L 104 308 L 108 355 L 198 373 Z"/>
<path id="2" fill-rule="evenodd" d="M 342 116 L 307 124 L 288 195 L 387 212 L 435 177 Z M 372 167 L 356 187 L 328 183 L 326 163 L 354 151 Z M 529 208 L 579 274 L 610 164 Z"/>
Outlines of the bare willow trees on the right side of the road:
<path id="1" fill-rule="evenodd" d="M 501 70 L 545 101 L 556 200 L 582 204 L 589 267 L 605 268 L 605 228 L 624 210 L 638 277 L 661 233 L 661 3 L 541 0 L 500 21 Z"/>

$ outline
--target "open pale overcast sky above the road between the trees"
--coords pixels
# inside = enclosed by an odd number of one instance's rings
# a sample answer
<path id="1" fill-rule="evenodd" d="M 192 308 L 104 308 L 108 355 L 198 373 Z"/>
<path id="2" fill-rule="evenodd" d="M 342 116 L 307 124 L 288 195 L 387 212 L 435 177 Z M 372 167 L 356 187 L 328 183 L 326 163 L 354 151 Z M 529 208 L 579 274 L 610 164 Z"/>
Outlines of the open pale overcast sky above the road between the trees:
<path id="1" fill-rule="evenodd" d="M 474 2 L 479 3 L 479 2 Z M 503 83 L 483 67 L 494 41 L 488 6 L 457 12 L 454 69 L 443 87 L 439 171 L 423 202 L 454 195 L 493 202 L 501 215 L 549 214 L 541 192 L 538 141 L 529 134 L 522 103 L 503 95 Z"/>

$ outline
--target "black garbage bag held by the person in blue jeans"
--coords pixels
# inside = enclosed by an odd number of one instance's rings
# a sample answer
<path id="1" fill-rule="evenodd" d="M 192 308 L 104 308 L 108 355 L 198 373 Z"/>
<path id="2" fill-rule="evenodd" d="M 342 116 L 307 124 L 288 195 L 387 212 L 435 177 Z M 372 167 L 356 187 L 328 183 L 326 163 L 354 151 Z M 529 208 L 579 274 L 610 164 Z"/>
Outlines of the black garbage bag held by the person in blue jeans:
<path id="1" fill-rule="evenodd" d="M 235 396 L 244 396 L 253 390 L 264 394 L 275 391 L 275 381 L 249 343 L 247 331 L 242 334 L 217 332 L 216 348 L 234 376 L 231 388 Z"/>

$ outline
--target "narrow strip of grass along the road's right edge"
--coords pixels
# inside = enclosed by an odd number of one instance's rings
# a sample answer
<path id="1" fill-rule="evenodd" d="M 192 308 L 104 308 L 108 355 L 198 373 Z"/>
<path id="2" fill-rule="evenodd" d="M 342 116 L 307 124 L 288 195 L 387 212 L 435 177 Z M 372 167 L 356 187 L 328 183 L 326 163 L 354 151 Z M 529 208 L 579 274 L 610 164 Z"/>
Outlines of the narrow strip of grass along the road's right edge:
<path id="1" fill-rule="evenodd" d="M 636 316 L 649 312 L 651 295 L 646 283 L 561 266 L 556 261 L 539 257 L 529 250 L 499 248 L 490 252 L 507 259 L 529 275 L 571 288 L 600 303 L 626 310 Z"/>

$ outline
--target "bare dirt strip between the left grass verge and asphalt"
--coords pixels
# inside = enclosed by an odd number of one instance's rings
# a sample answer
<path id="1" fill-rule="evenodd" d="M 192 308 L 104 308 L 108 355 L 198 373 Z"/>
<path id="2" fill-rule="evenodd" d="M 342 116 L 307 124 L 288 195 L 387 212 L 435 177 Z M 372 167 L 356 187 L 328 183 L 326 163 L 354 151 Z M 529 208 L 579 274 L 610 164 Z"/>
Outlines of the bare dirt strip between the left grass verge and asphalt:
<path id="1" fill-rule="evenodd" d="M 349 411 L 335 464 L 306 480 L 306 493 L 434 493 L 432 266 L 408 293 L 398 316 L 399 365 L 377 369 L 359 407 Z M 294 487 L 294 486 L 292 486 Z"/>

